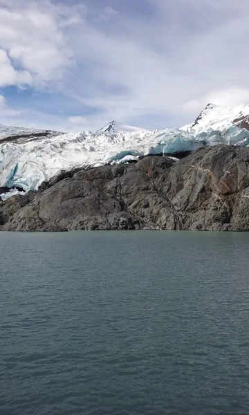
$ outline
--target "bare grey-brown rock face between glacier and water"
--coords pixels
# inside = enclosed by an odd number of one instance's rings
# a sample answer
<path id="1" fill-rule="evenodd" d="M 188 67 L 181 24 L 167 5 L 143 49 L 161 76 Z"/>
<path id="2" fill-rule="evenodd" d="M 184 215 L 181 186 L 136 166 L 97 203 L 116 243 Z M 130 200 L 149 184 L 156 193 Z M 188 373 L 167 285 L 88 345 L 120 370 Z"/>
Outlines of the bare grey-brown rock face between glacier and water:
<path id="1" fill-rule="evenodd" d="M 1 230 L 249 230 L 249 148 L 64 172 L 0 203 Z"/>

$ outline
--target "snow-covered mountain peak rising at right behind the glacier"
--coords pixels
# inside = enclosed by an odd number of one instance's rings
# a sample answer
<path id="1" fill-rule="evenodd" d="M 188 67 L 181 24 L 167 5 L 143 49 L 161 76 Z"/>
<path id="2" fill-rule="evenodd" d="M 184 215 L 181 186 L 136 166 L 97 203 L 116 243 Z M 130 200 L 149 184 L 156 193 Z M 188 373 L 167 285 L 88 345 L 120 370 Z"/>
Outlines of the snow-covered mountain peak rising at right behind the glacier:
<path id="1" fill-rule="evenodd" d="M 223 130 L 231 126 L 249 130 L 249 104 L 237 107 L 208 104 L 192 124 L 182 129 L 200 133 L 207 129 Z"/>

